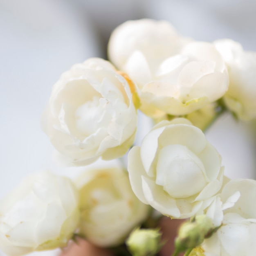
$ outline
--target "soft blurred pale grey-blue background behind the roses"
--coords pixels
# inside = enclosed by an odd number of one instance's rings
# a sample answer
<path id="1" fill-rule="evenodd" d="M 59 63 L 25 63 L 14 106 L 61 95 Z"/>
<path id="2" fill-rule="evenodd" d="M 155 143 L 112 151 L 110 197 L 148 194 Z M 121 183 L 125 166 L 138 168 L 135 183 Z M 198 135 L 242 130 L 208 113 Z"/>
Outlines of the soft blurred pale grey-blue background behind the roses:
<path id="1" fill-rule="evenodd" d="M 117 25 L 165 19 L 184 36 L 232 38 L 256 51 L 255 10 L 252 0 L 0 0 L 0 199 L 26 174 L 45 167 L 76 176 L 79 170 L 52 162 L 40 115 L 62 72 L 89 57 L 106 58 Z M 229 177 L 256 177 L 255 134 L 256 126 L 230 115 L 207 131 Z"/>

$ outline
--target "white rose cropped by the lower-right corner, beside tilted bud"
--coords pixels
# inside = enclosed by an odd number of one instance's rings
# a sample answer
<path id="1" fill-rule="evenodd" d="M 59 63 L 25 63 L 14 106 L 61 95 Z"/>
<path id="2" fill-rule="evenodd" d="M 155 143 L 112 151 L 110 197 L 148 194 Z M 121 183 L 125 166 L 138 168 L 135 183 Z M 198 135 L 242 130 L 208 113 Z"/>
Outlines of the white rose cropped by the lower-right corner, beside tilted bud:
<path id="1" fill-rule="evenodd" d="M 256 252 L 256 181 L 231 180 L 221 193 L 221 200 L 240 193 L 234 207 L 224 211 L 223 225 L 202 244 L 205 255 L 254 256 Z"/>

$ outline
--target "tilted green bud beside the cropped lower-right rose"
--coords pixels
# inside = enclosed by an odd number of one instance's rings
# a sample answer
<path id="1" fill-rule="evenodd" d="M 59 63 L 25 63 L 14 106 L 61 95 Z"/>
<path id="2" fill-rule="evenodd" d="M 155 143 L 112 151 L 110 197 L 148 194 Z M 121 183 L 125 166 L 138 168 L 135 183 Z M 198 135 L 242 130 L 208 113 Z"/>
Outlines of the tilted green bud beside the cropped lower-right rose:
<path id="1" fill-rule="evenodd" d="M 206 215 L 196 216 L 192 222 L 186 222 L 180 226 L 178 236 L 175 239 L 176 250 L 182 252 L 200 245 L 213 230 L 211 218 Z"/>

